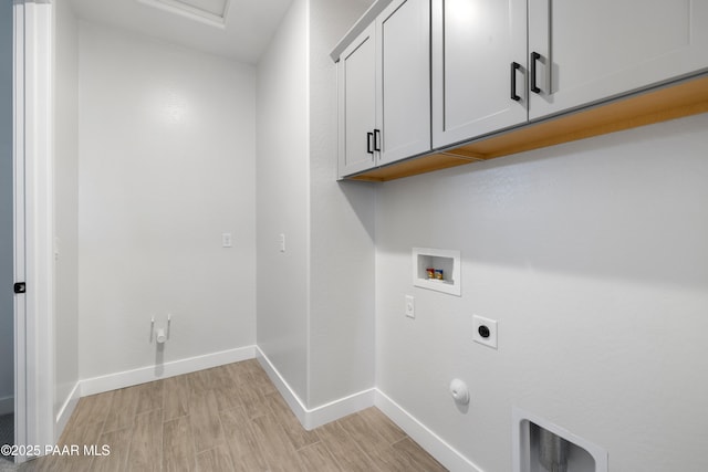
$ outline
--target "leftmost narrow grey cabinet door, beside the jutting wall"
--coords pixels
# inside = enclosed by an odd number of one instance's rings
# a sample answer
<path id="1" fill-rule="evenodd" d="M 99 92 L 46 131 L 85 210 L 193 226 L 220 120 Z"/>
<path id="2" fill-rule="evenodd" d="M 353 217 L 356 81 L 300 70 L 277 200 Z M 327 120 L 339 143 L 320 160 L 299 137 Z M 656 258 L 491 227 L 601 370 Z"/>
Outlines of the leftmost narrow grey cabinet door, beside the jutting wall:
<path id="1" fill-rule="evenodd" d="M 339 174 L 374 167 L 376 40 L 374 24 L 342 53 L 337 65 Z"/>

